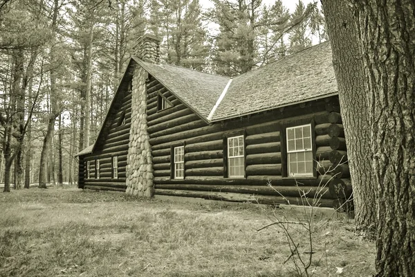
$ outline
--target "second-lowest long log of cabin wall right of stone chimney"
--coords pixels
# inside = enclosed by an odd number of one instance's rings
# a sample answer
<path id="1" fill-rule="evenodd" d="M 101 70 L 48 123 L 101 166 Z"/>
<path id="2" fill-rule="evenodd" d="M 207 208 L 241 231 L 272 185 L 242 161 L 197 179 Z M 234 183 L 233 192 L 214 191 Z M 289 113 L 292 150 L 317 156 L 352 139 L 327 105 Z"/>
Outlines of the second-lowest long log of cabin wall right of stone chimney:
<path id="1" fill-rule="evenodd" d="M 300 197 L 306 193 L 308 198 L 321 196 L 324 199 L 333 199 L 329 193 L 329 188 L 320 190 L 314 186 L 217 186 L 217 185 L 198 185 L 198 184 L 159 184 L 156 189 L 165 190 L 198 190 L 198 191 L 216 191 L 223 193 L 245 193 L 255 195 L 284 195 L 291 197 Z"/>

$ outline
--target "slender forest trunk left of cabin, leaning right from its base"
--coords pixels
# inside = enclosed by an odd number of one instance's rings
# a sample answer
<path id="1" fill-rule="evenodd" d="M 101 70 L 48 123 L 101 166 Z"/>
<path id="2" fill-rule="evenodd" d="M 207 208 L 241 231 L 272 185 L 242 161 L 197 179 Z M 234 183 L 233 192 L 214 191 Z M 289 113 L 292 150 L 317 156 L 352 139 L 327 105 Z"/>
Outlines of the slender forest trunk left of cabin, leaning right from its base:
<path id="1" fill-rule="evenodd" d="M 52 20 L 52 31 L 56 35 L 57 29 L 57 15 L 59 12 L 59 1 L 54 0 L 53 7 L 53 20 Z M 56 38 L 56 37 L 55 37 Z M 50 47 L 50 60 L 55 62 L 57 53 L 54 47 L 55 39 L 52 39 L 52 46 Z M 48 158 L 50 157 L 50 147 L 53 140 L 53 132 L 55 131 L 55 118 L 59 116 L 60 111 L 57 107 L 57 89 L 56 89 L 56 69 L 50 69 L 50 114 L 48 116 L 48 127 L 46 130 L 46 136 L 44 138 L 42 152 L 40 154 L 40 166 L 39 166 L 39 188 L 46 188 L 46 180 L 48 179 Z M 52 161 L 49 161 L 53 163 Z"/>

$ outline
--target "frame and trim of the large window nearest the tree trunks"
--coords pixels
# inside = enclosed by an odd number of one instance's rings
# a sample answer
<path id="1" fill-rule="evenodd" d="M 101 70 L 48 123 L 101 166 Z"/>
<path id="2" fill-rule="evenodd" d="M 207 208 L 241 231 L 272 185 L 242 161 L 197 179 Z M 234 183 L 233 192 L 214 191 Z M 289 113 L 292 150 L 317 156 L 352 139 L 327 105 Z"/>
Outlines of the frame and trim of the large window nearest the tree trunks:
<path id="1" fill-rule="evenodd" d="M 288 129 L 295 129 L 298 127 L 304 127 L 304 126 L 309 126 L 310 127 L 310 141 L 311 141 L 311 150 L 293 150 L 293 151 L 289 151 L 288 152 Z M 314 120 L 312 120 L 310 122 L 310 120 L 306 121 L 306 122 L 302 122 L 302 123 L 298 123 L 298 124 L 290 124 L 290 125 L 284 125 L 282 126 L 282 130 L 284 130 L 284 133 L 282 135 L 284 135 L 283 137 L 285 137 L 284 140 L 284 148 L 282 148 L 282 153 L 284 153 L 284 158 L 282 159 L 282 161 L 285 162 L 285 164 L 283 165 L 284 171 L 282 172 L 282 175 L 284 178 L 289 178 L 289 179 L 310 179 L 310 178 L 316 178 L 317 177 L 317 172 L 315 169 L 316 166 L 316 161 L 315 161 L 315 132 L 314 132 Z M 284 150 L 283 150 L 284 149 Z M 299 152 L 309 152 L 311 151 L 312 157 L 313 157 L 313 165 L 312 165 L 312 172 L 308 172 L 308 173 L 304 173 L 304 174 L 299 174 L 299 175 L 294 175 L 291 176 L 289 175 L 290 172 L 290 161 L 289 161 L 289 154 L 290 153 L 299 153 Z"/>

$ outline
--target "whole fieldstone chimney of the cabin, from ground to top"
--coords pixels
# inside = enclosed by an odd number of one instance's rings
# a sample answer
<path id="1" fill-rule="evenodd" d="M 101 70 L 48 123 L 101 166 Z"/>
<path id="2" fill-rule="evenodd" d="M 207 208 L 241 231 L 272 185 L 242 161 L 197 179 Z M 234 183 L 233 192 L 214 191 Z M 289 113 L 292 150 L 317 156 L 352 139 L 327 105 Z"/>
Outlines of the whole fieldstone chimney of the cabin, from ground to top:
<path id="1" fill-rule="evenodd" d="M 158 62 L 160 39 L 144 35 L 138 39 L 136 57 L 146 62 Z M 131 92 L 131 129 L 127 154 L 127 190 L 132 195 L 154 195 L 153 162 L 149 133 L 147 132 L 147 72 L 136 65 L 133 71 Z"/>

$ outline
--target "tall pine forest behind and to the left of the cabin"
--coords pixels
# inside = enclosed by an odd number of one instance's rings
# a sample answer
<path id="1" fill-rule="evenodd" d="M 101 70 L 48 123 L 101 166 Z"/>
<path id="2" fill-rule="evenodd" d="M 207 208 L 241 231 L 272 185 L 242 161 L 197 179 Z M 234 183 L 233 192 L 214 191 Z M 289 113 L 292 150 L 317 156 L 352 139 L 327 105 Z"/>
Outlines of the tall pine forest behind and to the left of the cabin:
<path id="1" fill-rule="evenodd" d="M 75 183 L 144 33 L 161 62 L 235 76 L 327 39 L 317 3 L 12 0 L 0 4 L 0 183 Z M 6 190 L 6 189 L 5 189 Z"/>

